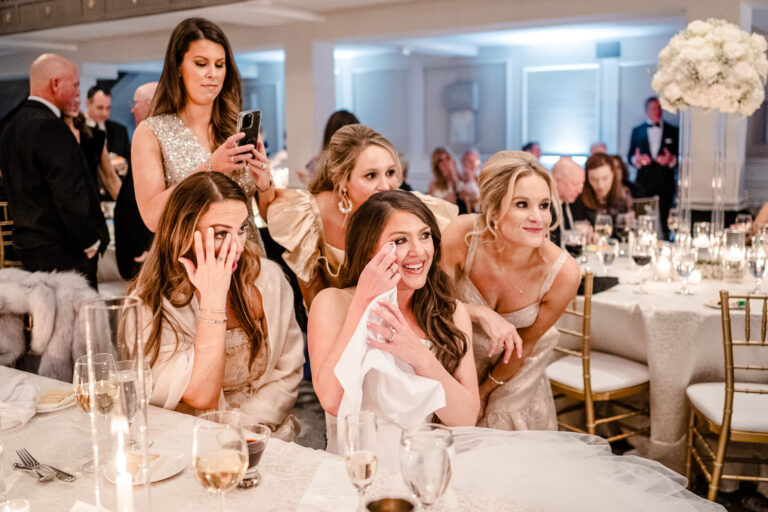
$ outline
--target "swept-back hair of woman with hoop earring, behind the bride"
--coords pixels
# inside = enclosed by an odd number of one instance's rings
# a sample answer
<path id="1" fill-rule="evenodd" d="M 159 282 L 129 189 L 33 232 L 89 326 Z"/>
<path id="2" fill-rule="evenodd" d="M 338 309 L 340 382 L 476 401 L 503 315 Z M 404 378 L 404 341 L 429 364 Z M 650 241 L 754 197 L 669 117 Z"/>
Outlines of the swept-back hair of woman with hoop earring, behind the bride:
<path id="1" fill-rule="evenodd" d="M 355 167 L 357 157 L 368 146 L 379 146 L 392 155 L 395 162 L 395 171 L 402 177 L 403 170 L 400 167 L 400 159 L 397 158 L 395 147 L 373 128 L 363 124 L 348 124 L 342 126 L 331 137 L 328 149 L 325 150 L 325 165 L 309 184 L 309 192 L 319 194 L 326 190 L 332 190 L 341 197 L 342 190 L 349 181 L 352 169 Z"/>

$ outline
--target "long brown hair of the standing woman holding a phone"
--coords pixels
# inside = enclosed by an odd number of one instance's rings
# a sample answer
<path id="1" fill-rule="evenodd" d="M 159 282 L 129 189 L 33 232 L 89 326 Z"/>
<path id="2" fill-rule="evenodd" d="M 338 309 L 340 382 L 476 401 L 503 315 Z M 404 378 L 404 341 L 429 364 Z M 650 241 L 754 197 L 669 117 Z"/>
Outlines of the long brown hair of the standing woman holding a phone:
<path id="1" fill-rule="evenodd" d="M 224 32 L 213 22 L 203 18 L 187 18 L 171 33 L 165 49 L 163 71 L 157 92 L 152 98 L 150 115 L 179 114 L 187 104 L 187 91 L 181 78 L 181 62 L 195 41 L 207 39 L 220 44 L 226 53 L 226 74 L 221 92 L 213 101 L 211 112 L 211 133 L 213 147 L 221 146 L 227 137 L 235 133 L 237 114 L 242 105 L 240 73 L 235 64 L 232 47 Z"/>

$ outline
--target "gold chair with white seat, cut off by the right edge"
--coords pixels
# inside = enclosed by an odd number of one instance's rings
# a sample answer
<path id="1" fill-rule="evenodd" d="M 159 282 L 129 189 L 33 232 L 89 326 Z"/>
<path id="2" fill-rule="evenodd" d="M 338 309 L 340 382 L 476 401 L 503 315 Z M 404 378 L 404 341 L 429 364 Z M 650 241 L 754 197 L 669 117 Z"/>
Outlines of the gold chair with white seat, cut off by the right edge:
<path id="1" fill-rule="evenodd" d="M 745 301 L 743 340 L 733 339 L 730 300 Z M 752 301 L 762 302 L 759 341 L 750 340 Z M 690 479 L 691 462 L 695 460 L 709 483 L 707 498 L 712 501 L 717 497 L 722 480 L 768 482 L 768 477 L 723 473 L 726 462 L 768 463 L 768 459 L 726 457 L 730 442 L 768 443 L 768 384 L 737 381 L 735 378 L 738 370 L 743 372 L 740 377 L 755 375 L 757 380 L 768 382 L 768 366 L 760 364 L 761 361 L 768 361 L 768 295 L 731 295 L 721 290 L 720 314 L 723 324 L 725 382 L 692 384 L 685 390 L 691 405 L 685 476 Z M 737 347 L 738 362 L 734 358 L 734 347 Z M 760 378 L 758 372 L 766 372 L 766 377 Z"/>

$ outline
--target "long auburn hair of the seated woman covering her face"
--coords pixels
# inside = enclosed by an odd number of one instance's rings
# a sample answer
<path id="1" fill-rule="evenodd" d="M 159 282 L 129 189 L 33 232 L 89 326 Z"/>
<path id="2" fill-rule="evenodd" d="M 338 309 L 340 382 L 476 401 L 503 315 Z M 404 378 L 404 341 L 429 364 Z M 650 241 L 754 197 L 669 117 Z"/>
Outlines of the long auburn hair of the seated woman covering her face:
<path id="1" fill-rule="evenodd" d="M 174 321 L 163 305 L 167 299 L 174 308 L 187 306 L 192 300 L 195 287 L 189 280 L 180 257 L 195 262 L 194 232 L 200 218 L 211 204 L 220 201 L 239 201 L 252 216 L 251 206 L 240 186 L 218 172 L 198 172 L 179 183 L 165 203 L 157 225 L 147 260 L 131 287 L 138 298 L 152 311 L 152 327 L 144 340 L 144 351 L 151 364 L 157 360 L 164 324 L 168 324 L 176 336 L 191 336 Z M 251 343 L 250 363 L 253 363 L 262 341 L 266 340 L 266 322 L 262 298 L 256 288 L 256 278 L 261 270 L 258 249 L 246 240 L 237 269 L 229 284 L 229 306 L 235 319 Z"/>

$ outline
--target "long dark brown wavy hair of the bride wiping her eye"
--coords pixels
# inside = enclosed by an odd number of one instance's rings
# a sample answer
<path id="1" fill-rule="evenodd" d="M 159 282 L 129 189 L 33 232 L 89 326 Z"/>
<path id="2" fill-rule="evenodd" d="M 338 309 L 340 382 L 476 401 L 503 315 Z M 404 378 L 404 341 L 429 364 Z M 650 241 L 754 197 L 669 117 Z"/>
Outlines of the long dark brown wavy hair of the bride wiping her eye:
<path id="1" fill-rule="evenodd" d="M 374 248 L 389 218 L 397 211 L 412 213 L 429 226 L 435 252 L 424 287 L 414 291 L 413 316 L 437 347 L 437 359 L 453 374 L 467 353 L 468 341 L 453 321 L 456 299 L 453 284 L 440 266 L 440 228 L 432 212 L 418 197 L 403 190 L 373 194 L 352 214 L 347 226 L 340 287 L 355 286 L 360 273 L 374 256 Z"/>

